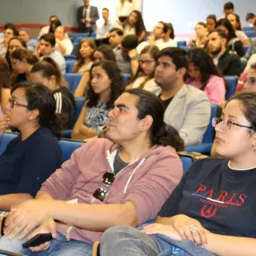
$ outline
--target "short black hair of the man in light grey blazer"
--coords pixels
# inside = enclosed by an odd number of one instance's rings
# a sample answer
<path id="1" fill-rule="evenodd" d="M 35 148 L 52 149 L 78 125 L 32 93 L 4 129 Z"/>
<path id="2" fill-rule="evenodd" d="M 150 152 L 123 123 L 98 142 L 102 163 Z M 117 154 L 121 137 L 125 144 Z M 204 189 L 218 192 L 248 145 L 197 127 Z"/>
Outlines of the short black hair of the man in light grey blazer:
<path id="1" fill-rule="evenodd" d="M 187 52 L 179 47 L 166 47 L 160 50 L 157 59 L 161 56 L 169 56 L 175 65 L 176 70 L 188 67 Z"/>

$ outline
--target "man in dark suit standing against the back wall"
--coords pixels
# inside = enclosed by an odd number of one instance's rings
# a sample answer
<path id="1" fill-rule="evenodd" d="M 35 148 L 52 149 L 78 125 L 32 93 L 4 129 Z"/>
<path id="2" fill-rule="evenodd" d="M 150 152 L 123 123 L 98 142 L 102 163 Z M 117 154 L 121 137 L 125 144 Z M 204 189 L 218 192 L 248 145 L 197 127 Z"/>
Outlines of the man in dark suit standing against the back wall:
<path id="1" fill-rule="evenodd" d="M 90 5 L 90 0 L 84 0 L 84 5 L 78 8 L 78 24 L 81 32 L 96 31 L 97 20 L 99 20 L 98 8 Z"/>

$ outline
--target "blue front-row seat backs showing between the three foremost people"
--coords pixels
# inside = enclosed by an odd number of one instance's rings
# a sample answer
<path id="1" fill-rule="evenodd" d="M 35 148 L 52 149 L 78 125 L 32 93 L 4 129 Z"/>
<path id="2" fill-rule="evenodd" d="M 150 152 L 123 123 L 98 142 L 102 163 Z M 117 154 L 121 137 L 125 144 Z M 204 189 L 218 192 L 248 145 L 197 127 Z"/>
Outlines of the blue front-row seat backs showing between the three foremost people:
<path id="1" fill-rule="evenodd" d="M 2 136 L 2 140 L 0 142 L 0 155 L 5 151 L 8 143 L 11 142 L 11 140 L 16 137 L 17 137 L 17 133 L 4 133 L 4 135 Z M 68 139 L 59 140 L 59 146 L 62 149 L 63 162 L 65 162 L 66 160 L 69 160 L 72 153 L 82 145 L 84 145 L 84 142 L 68 140 Z M 187 156 L 186 154 L 181 154 L 180 157 L 183 164 L 183 170 L 185 172 L 190 167 L 190 165 L 194 162 L 194 158 Z"/>

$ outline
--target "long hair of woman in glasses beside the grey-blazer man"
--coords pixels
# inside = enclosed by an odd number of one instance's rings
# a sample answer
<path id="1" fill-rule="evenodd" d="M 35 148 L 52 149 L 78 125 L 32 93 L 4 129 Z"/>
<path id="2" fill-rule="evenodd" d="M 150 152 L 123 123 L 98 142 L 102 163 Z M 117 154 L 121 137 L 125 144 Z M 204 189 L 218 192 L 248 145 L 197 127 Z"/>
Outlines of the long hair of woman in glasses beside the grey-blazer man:
<path id="1" fill-rule="evenodd" d="M 157 62 L 157 54 L 159 53 L 159 49 L 155 45 L 148 45 L 146 46 L 140 55 L 144 53 L 149 53 L 151 57 L 154 59 L 155 62 Z M 136 74 L 130 79 L 127 85 L 132 84 L 136 79 L 143 74 L 142 67 L 139 65 L 139 68 L 137 69 Z M 154 78 L 154 72 L 151 73 L 151 75 L 148 76 L 148 78 L 145 79 L 145 81 L 139 86 L 139 88 L 143 89 L 144 85 L 151 80 L 151 78 Z"/>

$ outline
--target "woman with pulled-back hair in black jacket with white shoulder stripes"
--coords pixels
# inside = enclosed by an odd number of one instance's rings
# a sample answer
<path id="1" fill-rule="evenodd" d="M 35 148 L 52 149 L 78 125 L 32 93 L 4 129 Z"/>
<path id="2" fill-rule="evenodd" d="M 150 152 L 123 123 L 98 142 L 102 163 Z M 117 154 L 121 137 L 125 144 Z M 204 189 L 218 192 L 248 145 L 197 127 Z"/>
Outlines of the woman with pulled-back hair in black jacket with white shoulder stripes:
<path id="1" fill-rule="evenodd" d="M 50 57 L 44 57 L 31 69 L 30 80 L 44 84 L 53 91 L 56 101 L 56 114 L 62 124 L 62 130 L 71 129 L 74 117 L 75 98 L 72 92 L 62 85 L 62 74 L 59 66 Z"/>

